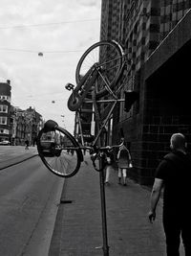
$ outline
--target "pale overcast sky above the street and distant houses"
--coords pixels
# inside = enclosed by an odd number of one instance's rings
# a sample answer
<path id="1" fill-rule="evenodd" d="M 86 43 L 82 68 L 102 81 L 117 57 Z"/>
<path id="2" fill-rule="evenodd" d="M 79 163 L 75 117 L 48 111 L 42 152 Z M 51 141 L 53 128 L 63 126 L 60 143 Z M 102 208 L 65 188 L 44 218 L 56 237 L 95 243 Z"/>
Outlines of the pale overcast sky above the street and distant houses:
<path id="1" fill-rule="evenodd" d="M 11 104 L 35 107 L 73 133 L 65 84 L 75 84 L 77 61 L 99 40 L 101 0 L 0 3 L 0 80 L 11 80 Z"/>

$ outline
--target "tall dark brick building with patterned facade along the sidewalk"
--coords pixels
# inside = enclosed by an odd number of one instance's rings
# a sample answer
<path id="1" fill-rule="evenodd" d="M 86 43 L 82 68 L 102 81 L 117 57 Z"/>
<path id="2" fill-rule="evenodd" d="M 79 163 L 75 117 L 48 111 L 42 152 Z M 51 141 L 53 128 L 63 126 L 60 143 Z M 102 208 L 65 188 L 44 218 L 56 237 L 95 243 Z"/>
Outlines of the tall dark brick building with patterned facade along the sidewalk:
<path id="1" fill-rule="evenodd" d="M 153 182 L 173 132 L 191 141 L 186 61 L 191 51 L 190 8 L 188 0 L 102 1 L 100 39 L 117 40 L 131 60 L 121 79 L 121 98 L 124 90 L 139 91 L 128 113 L 123 104 L 117 107 L 112 139 L 117 143 L 123 130 L 134 159 L 130 175 L 142 184 Z"/>

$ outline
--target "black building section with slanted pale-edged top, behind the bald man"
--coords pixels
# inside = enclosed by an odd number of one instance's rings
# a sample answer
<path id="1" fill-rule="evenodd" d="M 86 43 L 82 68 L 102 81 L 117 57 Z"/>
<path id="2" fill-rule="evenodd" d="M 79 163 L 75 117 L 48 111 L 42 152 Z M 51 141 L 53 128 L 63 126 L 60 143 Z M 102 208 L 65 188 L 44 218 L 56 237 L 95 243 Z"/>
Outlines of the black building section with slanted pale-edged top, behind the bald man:
<path id="1" fill-rule="evenodd" d="M 156 163 L 169 151 L 170 136 L 182 132 L 191 150 L 189 55 L 191 12 L 188 12 L 146 61 L 140 174 L 153 175 Z"/>

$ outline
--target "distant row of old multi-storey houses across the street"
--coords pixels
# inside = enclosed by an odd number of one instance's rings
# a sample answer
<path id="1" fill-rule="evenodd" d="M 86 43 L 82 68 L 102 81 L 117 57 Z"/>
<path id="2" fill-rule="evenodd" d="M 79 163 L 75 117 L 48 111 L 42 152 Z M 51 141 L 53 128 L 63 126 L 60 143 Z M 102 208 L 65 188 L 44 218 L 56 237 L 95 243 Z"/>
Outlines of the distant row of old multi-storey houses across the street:
<path id="1" fill-rule="evenodd" d="M 42 116 L 32 106 L 23 110 L 11 105 L 11 81 L 0 82 L 0 142 L 24 145 L 29 140 L 30 145 L 35 145 L 42 126 Z"/>

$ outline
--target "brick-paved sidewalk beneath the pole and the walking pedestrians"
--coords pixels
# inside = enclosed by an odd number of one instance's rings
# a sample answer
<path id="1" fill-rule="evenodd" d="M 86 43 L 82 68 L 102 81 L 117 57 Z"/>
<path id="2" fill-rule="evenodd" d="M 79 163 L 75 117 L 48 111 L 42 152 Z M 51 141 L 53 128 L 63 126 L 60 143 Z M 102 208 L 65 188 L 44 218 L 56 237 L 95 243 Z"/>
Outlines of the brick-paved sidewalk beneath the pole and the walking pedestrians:
<path id="1" fill-rule="evenodd" d="M 89 156 L 77 173 L 66 179 L 55 221 L 49 256 L 103 255 L 99 175 Z M 129 180 L 117 184 L 117 171 L 111 185 L 105 186 L 108 244 L 110 256 L 164 256 L 165 240 L 161 205 L 157 220 L 147 220 L 150 191 Z M 183 254 L 180 254 L 183 255 Z"/>

